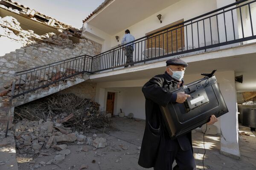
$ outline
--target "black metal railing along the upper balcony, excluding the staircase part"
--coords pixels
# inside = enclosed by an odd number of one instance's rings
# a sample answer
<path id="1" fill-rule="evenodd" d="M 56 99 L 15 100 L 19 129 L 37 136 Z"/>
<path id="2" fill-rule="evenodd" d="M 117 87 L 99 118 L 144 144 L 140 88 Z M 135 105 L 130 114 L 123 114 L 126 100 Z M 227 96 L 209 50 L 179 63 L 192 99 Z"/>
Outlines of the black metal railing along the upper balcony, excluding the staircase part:
<path id="1" fill-rule="evenodd" d="M 256 39 L 253 33 L 256 31 L 253 30 L 256 15 L 250 11 L 251 4 L 256 4 L 256 0 L 248 3 L 245 1 L 218 8 L 98 54 L 93 57 L 92 72 L 127 66 L 129 63 L 126 62 L 125 47 L 128 45 L 134 47 L 132 64 L 137 64 Z M 247 28 L 247 35 L 243 26 L 246 18 L 241 14 L 243 9 L 249 11 L 250 28 Z"/>

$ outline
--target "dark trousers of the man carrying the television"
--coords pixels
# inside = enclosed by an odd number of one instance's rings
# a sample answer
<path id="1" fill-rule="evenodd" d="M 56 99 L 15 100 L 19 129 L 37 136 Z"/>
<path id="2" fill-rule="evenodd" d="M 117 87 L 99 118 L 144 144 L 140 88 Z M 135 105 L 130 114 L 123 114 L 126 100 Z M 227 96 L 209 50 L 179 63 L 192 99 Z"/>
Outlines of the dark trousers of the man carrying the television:
<path id="1" fill-rule="evenodd" d="M 168 160 L 168 167 L 165 170 L 172 170 L 174 160 L 176 161 L 177 165 L 173 168 L 173 170 L 195 170 L 196 164 L 192 149 L 182 150 L 177 140 L 175 140 L 175 145 L 177 146 L 177 149 L 167 151 L 166 156 Z M 154 170 L 160 169 L 154 168 Z"/>

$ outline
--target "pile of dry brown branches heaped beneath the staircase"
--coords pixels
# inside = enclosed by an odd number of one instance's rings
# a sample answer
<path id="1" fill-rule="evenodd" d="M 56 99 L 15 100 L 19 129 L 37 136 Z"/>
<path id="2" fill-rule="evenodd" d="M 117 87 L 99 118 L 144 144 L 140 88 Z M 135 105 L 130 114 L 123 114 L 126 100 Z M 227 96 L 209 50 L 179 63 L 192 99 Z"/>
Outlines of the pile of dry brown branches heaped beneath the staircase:
<path id="1" fill-rule="evenodd" d="M 75 94 L 51 95 L 34 102 L 15 107 L 14 121 L 50 119 L 72 130 L 90 132 L 92 128 L 110 126 L 111 115 L 99 111 L 99 104 L 90 99 L 81 99 Z M 61 131 L 61 130 L 60 130 Z M 62 133 L 67 133 L 62 130 Z"/>

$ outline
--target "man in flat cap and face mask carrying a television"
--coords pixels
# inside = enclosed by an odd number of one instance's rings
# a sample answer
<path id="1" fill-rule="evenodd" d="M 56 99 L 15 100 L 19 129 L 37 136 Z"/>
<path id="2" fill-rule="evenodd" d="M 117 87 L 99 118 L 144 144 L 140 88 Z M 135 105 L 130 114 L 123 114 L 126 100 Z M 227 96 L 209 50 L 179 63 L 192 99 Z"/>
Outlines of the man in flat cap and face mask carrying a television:
<path id="1" fill-rule="evenodd" d="M 182 59 L 166 61 L 166 71 L 151 78 L 142 88 L 145 96 L 146 125 L 138 164 L 154 170 L 195 170 L 191 132 L 171 139 L 163 122 L 159 105 L 169 102 L 183 103 L 190 96 L 182 92 L 172 94 L 176 88 L 183 86 L 183 75 L 188 64 Z M 209 125 L 218 119 L 212 115 Z"/>

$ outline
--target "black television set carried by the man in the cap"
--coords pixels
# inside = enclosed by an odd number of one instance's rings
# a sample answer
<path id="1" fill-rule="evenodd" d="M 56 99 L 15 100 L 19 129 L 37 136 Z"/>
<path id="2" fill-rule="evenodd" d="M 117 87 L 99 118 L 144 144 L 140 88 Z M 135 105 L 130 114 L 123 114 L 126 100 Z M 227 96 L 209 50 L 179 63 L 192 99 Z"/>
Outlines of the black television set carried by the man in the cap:
<path id="1" fill-rule="evenodd" d="M 166 107 L 160 106 L 172 139 L 209 122 L 211 115 L 219 117 L 228 112 L 214 72 L 202 74 L 204 78 L 172 91 L 189 94 L 184 103 L 169 102 Z"/>

